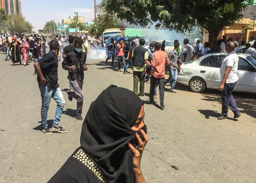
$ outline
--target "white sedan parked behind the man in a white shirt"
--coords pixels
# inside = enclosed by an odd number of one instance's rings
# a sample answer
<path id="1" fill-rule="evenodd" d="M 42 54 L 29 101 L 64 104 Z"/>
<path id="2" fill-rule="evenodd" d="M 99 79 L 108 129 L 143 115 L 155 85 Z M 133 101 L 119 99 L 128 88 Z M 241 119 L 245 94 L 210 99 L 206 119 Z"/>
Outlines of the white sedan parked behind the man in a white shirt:
<path id="1" fill-rule="evenodd" d="M 256 93 L 256 58 L 249 54 L 239 54 L 238 82 L 234 91 Z M 203 92 L 206 88 L 219 89 L 221 75 L 219 69 L 226 53 L 211 53 L 193 62 L 184 62 L 177 82 L 188 85 L 193 92 Z"/>

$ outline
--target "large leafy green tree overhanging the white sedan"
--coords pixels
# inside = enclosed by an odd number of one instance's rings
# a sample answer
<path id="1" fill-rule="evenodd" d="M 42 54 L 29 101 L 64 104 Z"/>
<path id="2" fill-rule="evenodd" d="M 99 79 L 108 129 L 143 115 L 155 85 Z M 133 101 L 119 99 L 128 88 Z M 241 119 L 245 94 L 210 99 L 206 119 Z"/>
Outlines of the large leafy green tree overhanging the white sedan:
<path id="1" fill-rule="evenodd" d="M 120 19 L 156 29 L 175 30 L 179 33 L 200 27 L 209 33 L 213 47 L 225 26 L 239 21 L 251 0 L 104 0 L 108 13 L 117 13 Z"/>

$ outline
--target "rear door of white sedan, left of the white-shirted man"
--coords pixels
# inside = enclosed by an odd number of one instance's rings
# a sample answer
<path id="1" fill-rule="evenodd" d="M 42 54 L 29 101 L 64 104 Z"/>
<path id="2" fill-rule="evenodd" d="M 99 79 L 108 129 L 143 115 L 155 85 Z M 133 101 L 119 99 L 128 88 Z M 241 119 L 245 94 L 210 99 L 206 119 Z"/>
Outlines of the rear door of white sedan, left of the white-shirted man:
<path id="1" fill-rule="evenodd" d="M 219 69 L 225 56 L 213 55 L 203 59 L 199 66 L 199 76 L 204 78 L 207 83 L 207 87 L 219 88 L 221 83 L 221 75 Z"/>

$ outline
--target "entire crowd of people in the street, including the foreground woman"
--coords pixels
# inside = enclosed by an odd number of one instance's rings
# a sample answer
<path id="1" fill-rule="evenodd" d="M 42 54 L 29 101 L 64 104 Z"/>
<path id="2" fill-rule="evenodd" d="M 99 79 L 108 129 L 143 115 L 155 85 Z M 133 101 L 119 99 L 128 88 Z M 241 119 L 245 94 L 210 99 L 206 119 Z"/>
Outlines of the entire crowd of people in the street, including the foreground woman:
<path id="1" fill-rule="evenodd" d="M 0 49 L 6 54 L 6 60 L 9 57 L 12 60 L 12 65 L 15 63 L 21 64 L 21 56 L 24 59 L 24 66 L 28 64 L 30 58 L 34 64 L 34 75 L 37 76 L 37 82 L 41 93 L 42 106 L 41 106 L 41 123 L 42 132 L 45 134 L 52 134 L 52 131 L 65 133 L 67 132 L 63 127 L 59 125 L 60 117 L 62 115 L 65 99 L 62 91 L 58 85 L 58 63 L 60 58 L 64 59 L 62 62 L 62 68 L 68 71 L 68 81 L 70 89 L 67 91 L 68 99 L 76 99 L 77 107 L 74 118 L 77 120 L 83 120 L 83 79 L 84 72 L 88 70 L 87 64 L 87 52 L 88 46 L 92 50 L 99 50 L 102 48 L 102 38 L 93 36 L 78 36 L 72 35 L 62 36 L 55 35 L 51 37 L 51 40 L 47 43 L 46 38 L 37 37 L 37 35 L 15 35 L 9 37 L 7 35 L 1 35 Z M 64 44 L 69 42 L 64 47 Z M 254 38 L 250 38 L 250 42 L 242 42 L 246 46 L 247 53 L 256 54 L 256 42 Z M 107 59 L 112 58 L 111 65 L 113 65 L 115 58 L 115 49 L 118 54 L 118 71 L 121 71 L 121 62 L 123 64 L 124 74 L 129 73 L 127 70 L 129 66 L 132 66 L 133 71 L 133 92 L 111 85 L 108 89 L 104 90 L 102 94 L 92 103 L 90 106 L 87 117 L 83 123 L 81 134 L 81 147 L 79 147 L 67 160 L 64 166 L 51 178 L 49 182 L 62 182 L 63 178 L 68 178 L 69 181 L 87 181 L 93 180 L 97 182 L 99 178 L 102 182 L 108 182 L 108 180 L 134 180 L 136 183 L 145 182 L 140 170 L 140 159 L 143 152 L 143 148 L 147 143 L 147 127 L 144 125 L 144 107 L 139 97 L 145 96 L 145 82 L 150 83 L 149 103 L 154 104 L 154 99 L 157 99 L 157 87 L 159 87 L 160 108 L 164 110 L 164 91 L 166 84 L 170 83 L 170 92 L 176 93 L 174 87 L 178 71 L 183 62 L 193 61 L 203 55 L 214 52 L 227 52 L 228 55 L 222 62 L 221 66 L 221 85 L 219 90 L 222 92 L 222 114 L 218 119 L 226 119 L 228 113 L 228 106 L 231 106 L 231 110 L 234 112 L 234 118 L 240 117 L 240 112 L 237 109 L 235 101 L 232 96 L 233 88 L 237 83 L 238 77 L 236 70 L 238 66 L 238 56 L 235 54 L 234 49 L 239 44 L 226 40 L 225 37 L 217 40 L 216 45 L 210 49 L 209 43 L 204 45 L 200 39 L 194 40 L 194 45 L 189 44 L 189 39 L 185 38 L 183 45 L 180 48 L 178 40 L 174 41 L 174 48 L 168 54 L 165 51 L 165 41 L 161 43 L 153 41 L 152 43 L 145 45 L 145 39 L 139 37 L 133 38 L 131 46 L 129 47 L 127 57 L 124 56 L 125 43 L 124 40 L 120 40 L 115 46 L 114 39 L 109 42 L 107 48 Z M 46 49 L 49 46 L 49 52 Z M 11 51 L 11 55 L 9 54 Z M 125 60 L 128 61 L 127 65 Z M 169 78 L 165 80 L 165 67 L 168 66 Z M 120 95 L 122 93 L 122 95 Z M 125 97 L 124 97 L 125 96 Z M 127 101 L 127 96 L 131 96 L 131 100 Z M 138 97 L 139 96 L 139 97 Z M 49 103 L 53 98 L 56 103 L 55 118 L 53 120 L 53 126 L 51 130 L 48 128 L 47 113 L 49 109 Z M 124 105 L 118 108 L 117 103 Z M 131 115 L 130 110 L 135 109 L 136 115 Z M 102 117 L 104 113 L 104 117 Z M 113 123 L 106 125 L 102 123 L 102 120 L 113 120 Z M 125 117 L 125 118 L 124 118 Z M 129 119 L 129 120 L 127 120 Z M 118 124 L 122 124 L 124 129 L 120 129 Z M 94 128 L 95 127 L 95 128 Z M 96 131 L 96 129 L 99 130 Z M 104 129 L 104 130 L 103 130 Z M 109 133 L 106 133 L 106 129 L 109 129 Z M 101 131 L 102 130 L 102 131 Z M 113 137 L 112 131 L 117 130 L 120 132 L 120 136 Z M 125 139 L 123 138 L 125 135 Z M 83 138 L 82 138 L 83 136 Z M 101 141 L 99 143 L 99 140 Z M 133 140 L 133 143 L 130 143 Z M 117 143 L 118 141 L 118 143 Z M 126 147 L 128 143 L 129 149 L 132 153 L 128 152 Z M 105 145 L 102 148 L 101 145 Z M 94 146 L 94 148 L 90 148 Z M 109 156 L 109 148 L 115 150 L 111 151 L 114 159 L 104 159 L 101 161 L 101 170 L 95 158 L 106 158 Z M 99 154 L 98 151 L 101 151 Z M 117 154 L 122 153 L 121 159 L 117 159 Z M 88 158 L 87 158 L 88 157 Z M 129 162 L 123 162 L 123 158 L 127 158 Z M 125 173 L 126 168 L 134 165 L 134 176 L 129 173 Z M 77 161 L 78 160 L 78 161 Z M 108 167 L 109 161 L 116 161 L 115 168 Z M 83 170 L 83 173 L 77 173 L 71 171 L 73 167 L 80 166 L 80 162 L 83 166 L 79 167 Z M 84 166 L 85 165 L 85 166 Z M 94 176 L 87 173 L 89 169 L 96 175 Z M 113 174 L 118 173 L 118 176 Z M 131 176 L 132 175 L 132 176 Z M 67 181 L 65 179 L 65 181 Z M 129 182 L 129 181 L 128 181 Z"/>

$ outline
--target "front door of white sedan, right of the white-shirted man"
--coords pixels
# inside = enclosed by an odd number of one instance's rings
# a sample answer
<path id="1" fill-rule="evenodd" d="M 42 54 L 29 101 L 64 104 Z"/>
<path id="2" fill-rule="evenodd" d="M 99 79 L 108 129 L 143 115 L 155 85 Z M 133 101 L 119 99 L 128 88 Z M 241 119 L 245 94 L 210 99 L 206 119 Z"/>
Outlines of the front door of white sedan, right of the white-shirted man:
<path id="1" fill-rule="evenodd" d="M 238 60 L 238 81 L 234 90 L 256 92 L 256 72 L 248 71 L 254 68 L 246 59 L 239 57 Z"/>

